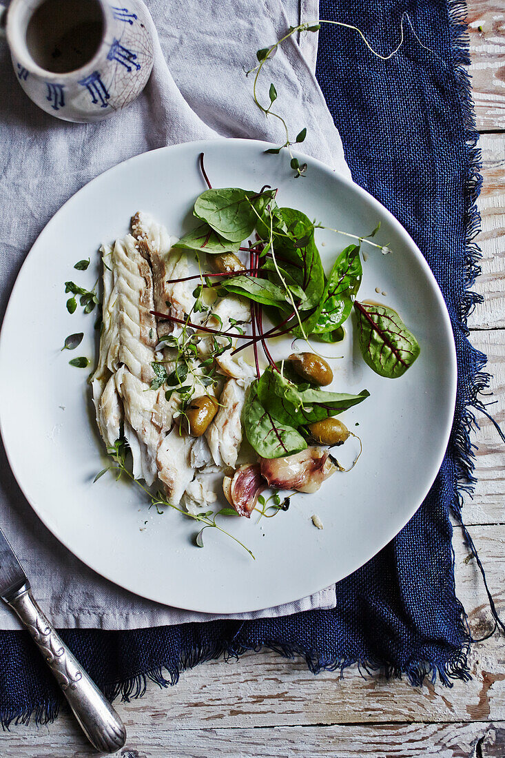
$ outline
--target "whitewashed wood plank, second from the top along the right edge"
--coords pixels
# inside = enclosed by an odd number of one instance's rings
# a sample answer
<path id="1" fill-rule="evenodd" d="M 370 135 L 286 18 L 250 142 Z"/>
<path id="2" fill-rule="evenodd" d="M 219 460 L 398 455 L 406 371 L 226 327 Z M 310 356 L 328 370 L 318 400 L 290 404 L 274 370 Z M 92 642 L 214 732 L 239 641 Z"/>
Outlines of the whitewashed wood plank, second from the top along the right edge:
<path id="1" fill-rule="evenodd" d="M 481 136 L 480 148 L 483 184 L 478 208 L 482 231 L 476 242 L 482 250 L 482 274 L 474 289 L 485 302 L 475 308 L 469 327 L 495 329 L 505 327 L 505 135 Z"/>

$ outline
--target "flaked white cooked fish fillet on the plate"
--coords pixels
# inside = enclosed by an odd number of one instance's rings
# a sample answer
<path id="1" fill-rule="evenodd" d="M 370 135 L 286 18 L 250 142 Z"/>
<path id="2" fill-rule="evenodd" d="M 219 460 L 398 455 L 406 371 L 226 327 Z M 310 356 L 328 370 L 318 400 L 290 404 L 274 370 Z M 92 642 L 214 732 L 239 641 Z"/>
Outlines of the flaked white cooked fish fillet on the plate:
<path id="1" fill-rule="evenodd" d="M 243 355 L 231 356 L 237 340 L 207 337 L 196 332 L 196 353 L 187 361 L 184 384 L 193 397 L 216 396 L 220 408 L 205 437 L 187 434 L 180 395 L 165 396 L 166 385 L 152 387 L 157 365 L 167 374 L 177 365 L 177 346 L 162 337 L 186 334 L 181 324 L 155 317 L 152 311 L 193 324 L 230 331 L 250 322 L 249 304 L 237 296 L 216 298 L 209 308 L 196 311 L 194 282 L 173 282 L 188 275 L 187 256 L 173 249 L 175 237 L 152 216 L 139 211 L 131 219 L 131 233 L 113 245 L 104 245 L 102 331 L 96 371 L 91 379 L 96 421 L 108 449 L 122 436 L 133 456 L 133 476 L 147 485 L 157 481 L 173 505 L 189 512 L 212 506 L 216 500 L 212 474 L 234 467 L 242 443 L 240 414 L 245 388 L 254 370 Z M 234 320 L 234 323 L 231 323 Z M 215 347 L 227 346 L 215 356 L 215 383 L 202 381 L 202 361 Z M 153 368 L 154 366 L 154 368 Z M 220 375 L 222 378 L 220 378 Z"/>

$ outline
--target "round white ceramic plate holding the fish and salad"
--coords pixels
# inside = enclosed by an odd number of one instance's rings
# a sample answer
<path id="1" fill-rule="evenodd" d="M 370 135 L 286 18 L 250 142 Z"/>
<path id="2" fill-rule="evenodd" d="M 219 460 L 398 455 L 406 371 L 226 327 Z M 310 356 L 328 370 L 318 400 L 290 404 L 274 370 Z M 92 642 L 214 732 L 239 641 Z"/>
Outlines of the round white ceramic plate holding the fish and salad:
<path id="1" fill-rule="evenodd" d="M 80 190 L 52 218 L 17 277 L 0 340 L 0 421 L 14 475 L 42 522 L 83 562 L 144 597 L 185 609 L 243 612 L 296 600 L 347 576 L 394 537 L 422 503 L 449 439 L 456 397 L 456 355 L 438 285 L 398 221 L 363 189 L 307 159 L 294 179 L 286 155 L 265 155 L 265 143 L 243 139 L 189 143 L 139 155 Z M 421 355 L 400 379 L 363 362 L 351 321 L 347 337 L 324 346 L 334 362 L 334 390 L 371 396 L 343 421 L 359 432 L 363 453 L 349 474 L 335 474 L 288 512 L 256 523 L 224 518 L 256 555 L 253 561 L 216 530 L 193 545 L 197 525 L 177 512 L 148 510 L 136 487 L 105 475 L 93 424 L 87 372 L 74 356 L 92 356 L 94 315 L 69 315 L 63 283 L 92 287 L 100 243 L 127 231 L 130 216 L 150 211 L 174 234 L 187 229 L 194 199 L 205 189 L 199 153 L 214 186 L 278 187 L 278 202 L 329 227 L 367 234 L 394 252 L 365 246 L 360 299 L 400 312 L 418 337 Z M 301 162 L 301 161 L 300 161 Z M 350 240 L 318 233 L 328 267 Z M 91 256 L 96 265 L 74 271 Z M 385 295 L 378 295 L 376 288 Z M 84 331 L 75 352 L 61 352 L 67 334 Z M 287 356 L 290 340 L 278 343 Z M 30 366 L 24 371 L 23 366 Z M 355 426 L 358 423 L 359 426 Z M 348 443 L 346 443 L 348 444 Z M 345 449 L 344 446 L 343 449 Z M 342 449 L 342 450 L 343 450 Z M 316 529 L 312 514 L 324 529 Z"/>

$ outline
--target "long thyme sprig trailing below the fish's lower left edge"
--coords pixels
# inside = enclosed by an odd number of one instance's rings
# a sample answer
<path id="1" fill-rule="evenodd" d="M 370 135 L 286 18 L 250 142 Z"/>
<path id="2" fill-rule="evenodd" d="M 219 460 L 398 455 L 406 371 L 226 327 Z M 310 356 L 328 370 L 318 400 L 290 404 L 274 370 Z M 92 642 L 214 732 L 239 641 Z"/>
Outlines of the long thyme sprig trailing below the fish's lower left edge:
<path id="1" fill-rule="evenodd" d="M 107 453 L 111 458 L 111 465 L 105 466 L 105 468 L 102 468 L 102 471 L 99 471 L 93 480 L 93 484 L 102 478 L 102 476 L 105 475 L 108 471 L 114 473 L 116 481 L 121 479 L 122 476 L 126 476 L 128 479 L 130 479 L 130 481 L 133 481 L 136 486 L 140 488 L 140 490 L 146 493 L 150 501 L 149 508 L 152 508 L 154 506 L 156 512 L 158 512 L 159 515 L 162 515 L 165 512 L 162 509 L 171 508 L 174 511 L 182 513 L 183 516 L 191 518 L 193 521 L 202 524 L 202 528 L 198 534 L 195 535 L 195 543 L 197 547 L 203 547 L 203 532 L 205 529 L 217 529 L 221 532 L 221 534 L 226 534 L 227 537 L 230 537 L 231 540 L 234 540 L 234 542 L 240 545 L 240 547 L 243 547 L 243 550 L 245 550 L 246 553 L 249 553 L 249 556 L 251 556 L 253 560 L 256 560 L 256 557 L 252 551 L 249 550 L 249 548 L 246 547 L 243 542 L 240 542 L 237 537 L 234 537 L 233 534 L 230 534 L 229 531 L 222 528 L 221 525 L 216 522 L 216 518 L 220 515 L 237 517 L 237 511 L 235 511 L 233 508 L 221 508 L 221 510 L 218 512 L 206 511 L 205 513 L 189 513 L 187 511 L 184 511 L 182 508 L 169 503 L 160 490 L 156 490 L 155 493 L 152 493 L 149 488 L 146 487 L 142 481 L 140 481 L 140 479 L 136 479 L 133 476 L 133 473 L 127 466 L 128 445 L 126 440 L 116 440 L 114 446 L 107 449 Z"/>

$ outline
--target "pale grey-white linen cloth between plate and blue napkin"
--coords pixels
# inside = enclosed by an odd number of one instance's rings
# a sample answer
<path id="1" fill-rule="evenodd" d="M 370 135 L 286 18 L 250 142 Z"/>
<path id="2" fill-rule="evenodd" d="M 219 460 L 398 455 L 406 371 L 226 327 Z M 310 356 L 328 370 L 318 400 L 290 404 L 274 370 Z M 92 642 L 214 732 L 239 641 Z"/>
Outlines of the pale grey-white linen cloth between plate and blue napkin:
<path id="1" fill-rule="evenodd" d="M 158 39 L 152 77 L 125 111 L 97 124 L 67 124 L 39 111 L 17 84 L 0 41 L 0 265 L 2 315 L 17 271 L 55 211 L 89 180 L 132 155 L 217 136 L 284 142 L 277 119 L 252 100 L 256 50 L 280 39 L 300 17 L 314 23 L 318 0 L 148 0 Z M 307 127 L 303 151 L 349 176 L 342 145 L 315 80 L 317 34 L 288 41 L 268 62 L 276 108 L 294 134 Z M 34 367 L 36 369 L 36 367 Z M 36 371 L 34 374 L 36 384 Z M 36 387 L 34 387 L 34 390 Z M 30 454 L 36 455 L 36 451 Z M 24 565 L 33 592 L 58 627 L 133 629 L 222 618 L 152 603 L 96 575 L 39 522 L 0 451 L 0 525 Z M 287 615 L 333 607 L 328 587 L 274 609 L 234 618 Z M 18 628 L 0 603 L 0 628 Z"/>

